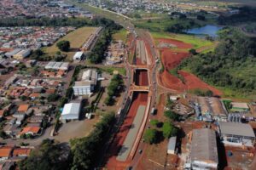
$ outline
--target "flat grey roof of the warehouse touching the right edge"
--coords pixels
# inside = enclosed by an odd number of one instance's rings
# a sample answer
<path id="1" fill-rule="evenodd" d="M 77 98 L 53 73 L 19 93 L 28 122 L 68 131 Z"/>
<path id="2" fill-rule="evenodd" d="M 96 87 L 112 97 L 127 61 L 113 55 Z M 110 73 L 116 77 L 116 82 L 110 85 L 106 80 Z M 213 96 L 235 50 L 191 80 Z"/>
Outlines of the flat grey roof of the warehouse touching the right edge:
<path id="1" fill-rule="evenodd" d="M 241 122 L 219 122 L 220 133 L 255 138 L 253 127 Z"/>

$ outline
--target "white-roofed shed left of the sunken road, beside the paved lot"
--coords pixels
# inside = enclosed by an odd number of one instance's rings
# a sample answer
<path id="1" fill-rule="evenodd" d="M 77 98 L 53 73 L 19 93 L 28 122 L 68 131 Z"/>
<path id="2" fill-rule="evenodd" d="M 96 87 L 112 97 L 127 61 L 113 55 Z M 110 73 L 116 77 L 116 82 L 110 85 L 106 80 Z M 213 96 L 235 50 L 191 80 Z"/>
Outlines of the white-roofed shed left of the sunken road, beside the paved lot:
<path id="1" fill-rule="evenodd" d="M 61 112 L 62 122 L 67 122 L 69 120 L 79 120 L 81 110 L 81 103 L 69 103 L 64 105 L 63 111 Z"/>

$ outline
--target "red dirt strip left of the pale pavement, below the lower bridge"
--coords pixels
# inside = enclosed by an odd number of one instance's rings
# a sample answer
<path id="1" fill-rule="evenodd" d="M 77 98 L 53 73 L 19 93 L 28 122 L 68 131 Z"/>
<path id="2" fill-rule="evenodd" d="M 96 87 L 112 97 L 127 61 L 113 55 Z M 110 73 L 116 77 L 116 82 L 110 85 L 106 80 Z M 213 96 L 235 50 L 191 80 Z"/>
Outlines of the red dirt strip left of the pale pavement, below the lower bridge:
<path id="1" fill-rule="evenodd" d="M 126 135 L 129 133 L 131 128 L 131 124 L 136 116 L 137 109 L 139 105 L 147 105 L 148 94 L 147 93 L 134 93 L 133 100 L 131 103 L 131 107 L 128 111 L 127 116 L 125 117 L 125 121 L 123 125 L 119 128 L 119 133 L 114 137 L 113 143 L 108 150 L 109 158 L 107 167 L 109 170 L 123 170 L 125 169 L 131 160 L 127 161 L 117 161 L 116 157 L 118 156 L 119 150 L 122 147 L 122 144 L 125 141 Z"/>

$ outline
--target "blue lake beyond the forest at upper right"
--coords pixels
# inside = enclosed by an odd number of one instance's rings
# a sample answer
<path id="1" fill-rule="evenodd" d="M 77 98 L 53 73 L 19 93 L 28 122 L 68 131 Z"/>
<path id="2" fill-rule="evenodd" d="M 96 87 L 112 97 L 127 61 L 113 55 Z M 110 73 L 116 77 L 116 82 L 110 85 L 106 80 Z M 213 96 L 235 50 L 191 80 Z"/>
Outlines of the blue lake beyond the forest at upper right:
<path id="1" fill-rule="evenodd" d="M 221 30 L 222 27 L 220 26 L 202 26 L 199 28 L 193 28 L 185 31 L 188 34 L 195 34 L 195 35 L 208 35 L 210 37 L 218 37 L 217 32 Z"/>

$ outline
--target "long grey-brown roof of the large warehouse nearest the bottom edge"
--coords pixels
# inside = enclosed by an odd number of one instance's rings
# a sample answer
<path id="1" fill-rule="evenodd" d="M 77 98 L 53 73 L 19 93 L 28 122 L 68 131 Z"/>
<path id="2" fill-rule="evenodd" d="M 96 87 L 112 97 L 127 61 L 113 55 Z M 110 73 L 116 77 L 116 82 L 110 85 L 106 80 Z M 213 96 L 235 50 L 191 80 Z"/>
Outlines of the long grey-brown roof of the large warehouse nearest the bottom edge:
<path id="1" fill-rule="evenodd" d="M 218 163 L 216 134 L 212 129 L 194 129 L 191 144 L 191 161 Z"/>

